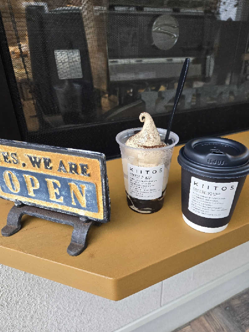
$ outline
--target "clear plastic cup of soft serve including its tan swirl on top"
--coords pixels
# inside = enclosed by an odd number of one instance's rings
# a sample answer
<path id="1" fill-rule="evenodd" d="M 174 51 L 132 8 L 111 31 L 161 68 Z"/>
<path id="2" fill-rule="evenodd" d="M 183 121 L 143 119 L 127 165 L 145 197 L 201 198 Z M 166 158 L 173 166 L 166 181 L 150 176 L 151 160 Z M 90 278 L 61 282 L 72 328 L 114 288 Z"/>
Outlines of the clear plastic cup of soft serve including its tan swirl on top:
<path id="1" fill-rule="evenodd" d="M 162 207 L 172 151 L 178 142 L 178 136 L 172 133 L 175 135 L 175 143 L 167 146 L 163 142 L 165 129 L 158 129 L 160 137 L 148 113 L 141 113 L 139 119 L 144 122 L 142 129 L 125 130 L 116 139 L 122 153 L 128 205 L 137 212 L 152 213 Z"/>

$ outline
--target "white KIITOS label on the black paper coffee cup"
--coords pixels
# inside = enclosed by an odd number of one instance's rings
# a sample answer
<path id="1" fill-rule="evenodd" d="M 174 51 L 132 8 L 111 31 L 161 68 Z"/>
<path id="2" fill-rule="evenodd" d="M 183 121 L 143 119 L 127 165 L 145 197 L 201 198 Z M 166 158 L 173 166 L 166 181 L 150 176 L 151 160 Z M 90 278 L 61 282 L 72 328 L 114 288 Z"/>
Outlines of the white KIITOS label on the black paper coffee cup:
<path id="1" fill-rule="evenodd" d="M 191 177 L 189 210 L 205 218 L 227 217 L 238 182 L 217 183 Z"/>

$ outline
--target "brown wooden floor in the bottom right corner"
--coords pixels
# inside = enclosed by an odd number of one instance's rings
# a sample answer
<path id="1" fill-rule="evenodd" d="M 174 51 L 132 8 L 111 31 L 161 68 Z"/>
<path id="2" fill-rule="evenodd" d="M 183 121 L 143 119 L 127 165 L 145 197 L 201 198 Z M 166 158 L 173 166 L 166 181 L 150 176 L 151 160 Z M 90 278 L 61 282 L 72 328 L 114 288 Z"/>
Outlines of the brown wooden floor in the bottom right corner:
<path id="1" fill-rule="evenodd" d="M 249 332 L 249 288 L 173 332 Z"/>

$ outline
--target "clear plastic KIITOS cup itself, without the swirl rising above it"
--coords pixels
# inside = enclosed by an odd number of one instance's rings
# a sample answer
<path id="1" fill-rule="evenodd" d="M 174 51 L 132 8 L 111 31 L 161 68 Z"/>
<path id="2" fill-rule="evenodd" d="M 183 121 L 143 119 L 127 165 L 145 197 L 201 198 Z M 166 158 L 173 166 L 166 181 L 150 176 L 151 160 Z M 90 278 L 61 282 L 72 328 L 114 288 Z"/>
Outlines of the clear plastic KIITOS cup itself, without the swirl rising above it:
<path id="1" fill-rule="evenodd" d="M 170 132 L 171 145 L 160 148 L 133 148 L 126 140 L 142 128 L 131 128 L 116 136 L 124 171 L 124 186 L 128 206 L 139 213 L 153 213 L 163 206 L 174 146 L 179 137 Z M 167 130 L 157 128 L 161 141 Z"/>

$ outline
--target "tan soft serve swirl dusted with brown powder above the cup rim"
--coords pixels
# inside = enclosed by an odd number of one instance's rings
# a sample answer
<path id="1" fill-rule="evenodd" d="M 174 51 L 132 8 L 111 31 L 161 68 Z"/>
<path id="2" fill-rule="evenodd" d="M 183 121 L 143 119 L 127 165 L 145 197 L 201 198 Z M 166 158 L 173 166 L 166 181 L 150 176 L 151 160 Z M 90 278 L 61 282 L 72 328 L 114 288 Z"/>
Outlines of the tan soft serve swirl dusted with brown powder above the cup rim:
<path id="1" fill-rule="evenodd" d="M 141 113 L 139 120 L 144 122 L 141 131 L 129 137 L 125 145 L 143 149 L 152 149 L 166 146 L 166 144 L 161 141 L 154 121 L 149 113 Z"/>

